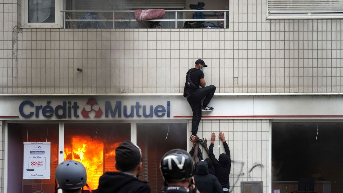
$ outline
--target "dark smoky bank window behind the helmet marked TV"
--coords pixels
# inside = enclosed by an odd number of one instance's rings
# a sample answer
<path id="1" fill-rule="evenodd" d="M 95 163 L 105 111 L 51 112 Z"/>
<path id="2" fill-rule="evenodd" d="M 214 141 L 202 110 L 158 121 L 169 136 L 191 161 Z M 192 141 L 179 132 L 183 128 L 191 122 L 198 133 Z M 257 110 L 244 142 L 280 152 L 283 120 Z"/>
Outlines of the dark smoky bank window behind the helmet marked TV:
<path id="1" fill-rule="evenodd" d="M 186 123 L 137 123 L 137 145 L 142 150 L 140 179 L 148 181 L 151 192 L 160 192 L 164 184 L 159 162 L 171 149 L 185 149 L 187 143 Z"/>

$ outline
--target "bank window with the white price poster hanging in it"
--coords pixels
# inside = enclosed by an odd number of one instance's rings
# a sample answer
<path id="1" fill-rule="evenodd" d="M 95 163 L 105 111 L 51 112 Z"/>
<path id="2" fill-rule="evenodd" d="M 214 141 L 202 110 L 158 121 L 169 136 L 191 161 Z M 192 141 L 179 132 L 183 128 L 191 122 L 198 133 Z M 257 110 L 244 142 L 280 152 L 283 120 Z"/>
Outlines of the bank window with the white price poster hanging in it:
<path id="1" fill-rule="evenodd" d="M 48 147 L 27 143 L 50 143 Z M 25 143 L 25 144 L 24 144 Z M 50 154 L 46 150 L 50 146 Z M 31 150 L 32 149 L 32 150 Z M 39 151 L 39 152 L 38 152 Z M 44 151 L 44 153 L 41 153 Z M 35 154 L 34 154 L 35 153 Z M 46 161 L 46 162 L 45 162 Z M 43 163 L 42 163 L 43 162 Z M 50 165 L 50 171 L 44 171 Z M 58 124 L 8 124 L 8 192 L 55 192 Z M 25 168 L 24 168 L 25 166 Z M 44 175 L 39 177 L 39 175 Z M 50 175 L 50 177 L 49 177 Z M 43 178 L 43 179 L 39 179 Z"/>

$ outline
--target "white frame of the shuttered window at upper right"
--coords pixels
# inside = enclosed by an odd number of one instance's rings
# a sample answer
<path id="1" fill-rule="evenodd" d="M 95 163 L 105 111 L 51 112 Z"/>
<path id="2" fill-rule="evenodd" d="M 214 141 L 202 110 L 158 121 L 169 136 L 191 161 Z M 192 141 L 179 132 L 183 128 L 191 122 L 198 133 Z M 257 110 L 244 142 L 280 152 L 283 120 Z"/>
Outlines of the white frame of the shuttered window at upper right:
<path id="1" fill-rule="evenodd" d="M 268 0 L 265 8 L 266 19 L 343 19 L 342 13 L 303 13 L 303 12 L 280 12 L 269 13 Z"/>

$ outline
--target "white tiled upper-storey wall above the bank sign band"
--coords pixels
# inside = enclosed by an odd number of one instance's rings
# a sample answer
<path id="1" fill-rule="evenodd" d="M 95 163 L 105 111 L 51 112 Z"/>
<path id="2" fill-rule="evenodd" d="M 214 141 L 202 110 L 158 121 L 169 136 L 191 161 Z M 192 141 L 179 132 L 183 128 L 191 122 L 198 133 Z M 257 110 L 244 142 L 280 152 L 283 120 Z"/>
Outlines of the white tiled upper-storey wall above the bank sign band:
<path id="1" fill-rule="evenodd" d="M 266 20 L 265 0 L 231 0 L 226 30 L 23 29 L 16 62 L 20 5 L 2 2 L 0 93 L 182 93 L 198 58 L 220 93 L 342 92 L 340 19 Z"/>

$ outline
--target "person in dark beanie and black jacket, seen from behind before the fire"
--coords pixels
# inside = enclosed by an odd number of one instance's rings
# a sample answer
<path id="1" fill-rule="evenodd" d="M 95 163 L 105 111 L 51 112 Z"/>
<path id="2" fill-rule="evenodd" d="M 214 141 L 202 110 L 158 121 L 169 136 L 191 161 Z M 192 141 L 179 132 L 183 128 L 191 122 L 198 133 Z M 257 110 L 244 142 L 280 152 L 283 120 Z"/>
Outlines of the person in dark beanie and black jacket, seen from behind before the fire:
<path id="1" fill-rule="evenodd" d="M 142 168 L 141 149 L 131 141 L 123 141 L 116 149 L 116 168 L 120 172 L 106 172 L 99 178 L 95 193 L 150 193 L 147 182 L 138 180 Z"/>

